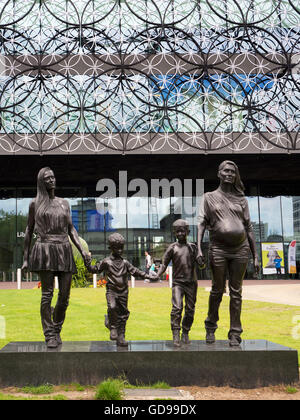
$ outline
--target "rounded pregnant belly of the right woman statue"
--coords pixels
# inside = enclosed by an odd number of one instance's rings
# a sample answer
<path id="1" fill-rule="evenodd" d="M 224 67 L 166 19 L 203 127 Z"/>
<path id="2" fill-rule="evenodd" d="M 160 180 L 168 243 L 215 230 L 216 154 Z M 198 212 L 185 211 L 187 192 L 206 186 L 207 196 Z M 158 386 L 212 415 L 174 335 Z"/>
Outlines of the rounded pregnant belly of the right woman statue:
<path id="1" fill-rule="evenodd" d="M 223 219 L 214 226 L 213 238 L 220 244 L 239 246 L 246 237 L 244 225 L 240 220 Z"/>

